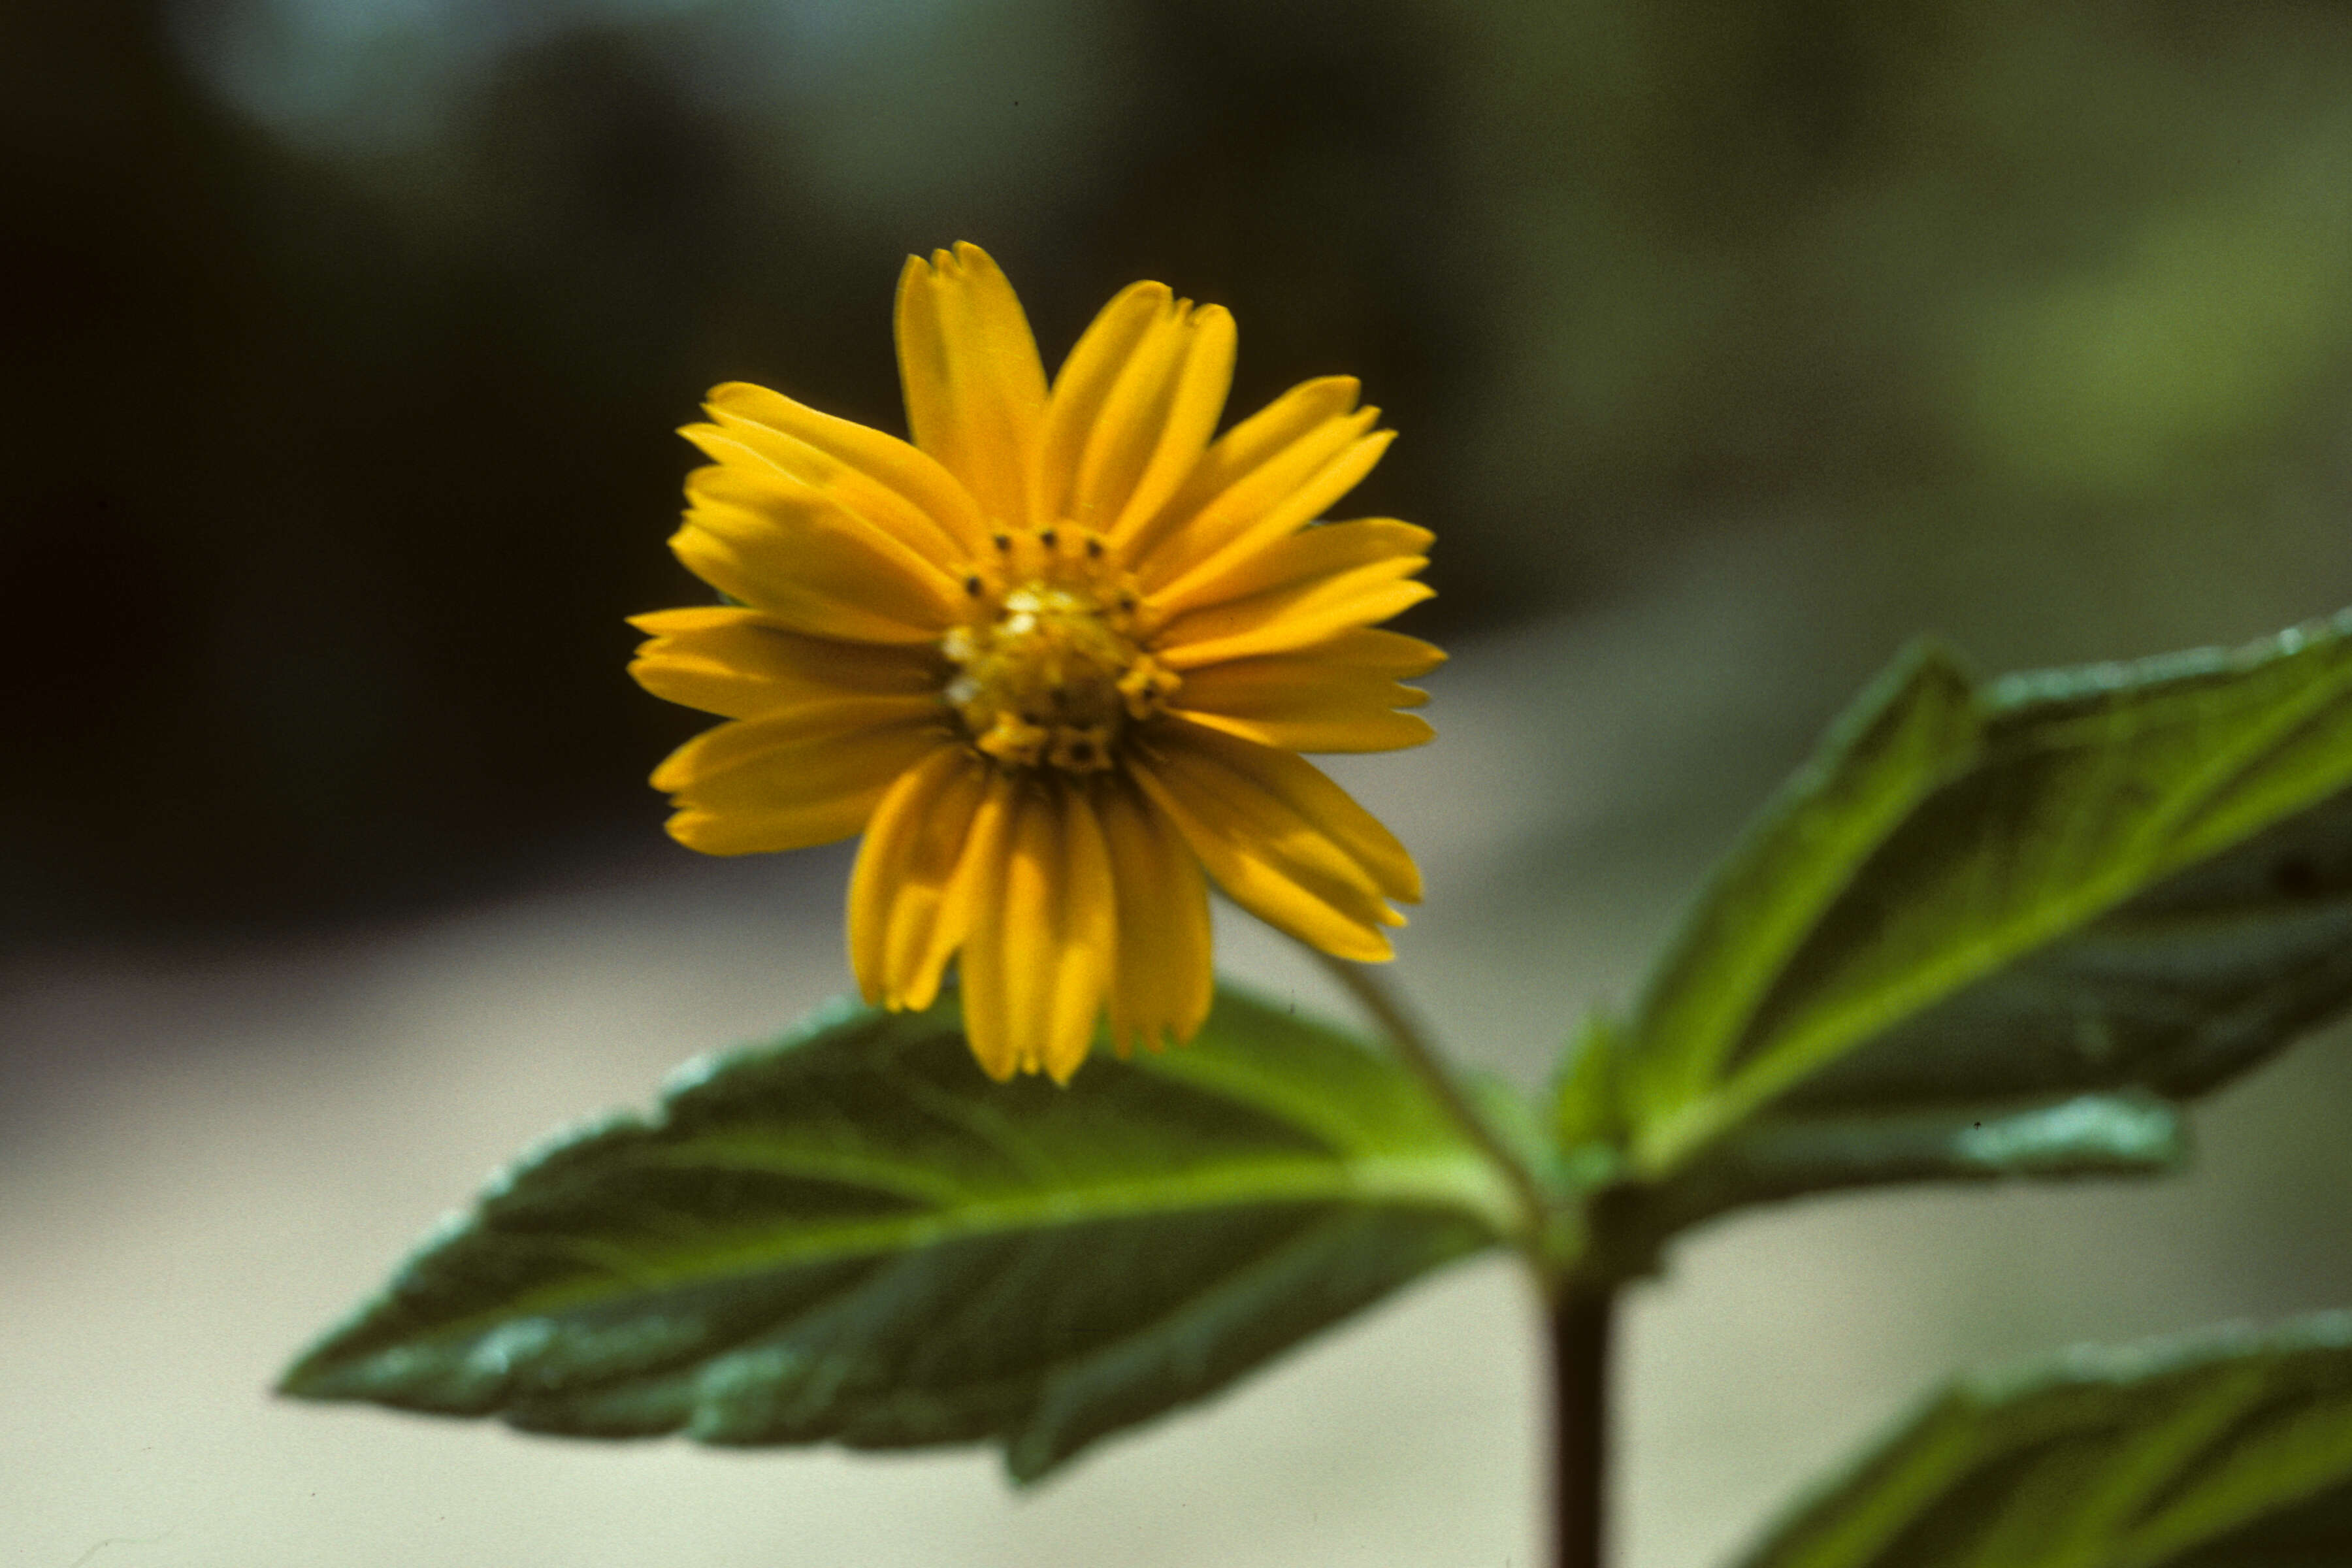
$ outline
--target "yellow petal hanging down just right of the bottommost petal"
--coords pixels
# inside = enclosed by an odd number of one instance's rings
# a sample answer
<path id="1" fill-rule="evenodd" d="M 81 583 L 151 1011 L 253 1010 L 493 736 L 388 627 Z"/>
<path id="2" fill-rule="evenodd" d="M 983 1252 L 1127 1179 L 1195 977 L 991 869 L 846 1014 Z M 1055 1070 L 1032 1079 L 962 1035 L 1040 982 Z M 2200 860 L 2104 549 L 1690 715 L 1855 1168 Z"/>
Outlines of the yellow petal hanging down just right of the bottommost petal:
<path id="1" fill-rule="evenodd" d="M 1105 785 L 1098 816 L 1120 903 L 1110 1039 L 1122 1056 L 1136 1044 L 1183 1044 L 1200 1032 L 1216 990 L 1200 858 L 1124 778 Z"/>

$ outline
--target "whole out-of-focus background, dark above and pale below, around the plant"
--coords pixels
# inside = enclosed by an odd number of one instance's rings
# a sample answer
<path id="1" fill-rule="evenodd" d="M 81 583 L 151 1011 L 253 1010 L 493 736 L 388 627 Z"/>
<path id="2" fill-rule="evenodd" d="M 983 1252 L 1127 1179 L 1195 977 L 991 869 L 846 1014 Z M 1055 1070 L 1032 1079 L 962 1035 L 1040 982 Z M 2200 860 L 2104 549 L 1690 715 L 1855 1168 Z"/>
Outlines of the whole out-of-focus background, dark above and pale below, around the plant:
<path id="1" fill-rule="evenodd" d="M 706 386 L 898 428 L 910 249 L 990 247 L 1049 362 L 1160 277 L 1240 317 L 1237 411 L 1388 409 L 1350 510 L 1439 531 L 1406 625 L 1456 661 L 1437 748 L 1336 771 L 1430 870 L 1406 978 L 1526 1081 L 1910 632 L 2352 602 L 2324 0 L 0 0 L 0 179 L 28 1563 L 1531 1561 L 1498 1267 L 1035 1500 L 259 1392 L 480 1171 L 842 987 L 844 853 L 661 837 L 703 719 L 621 616 L 703 597 Z M 1719 1559 L 1955 1359 L 2352 1305 L 2345 1112 L 2331 1037 L 2183 1187 L 1693 1241 L 1630 1328 L 1628 1561 Z"/>

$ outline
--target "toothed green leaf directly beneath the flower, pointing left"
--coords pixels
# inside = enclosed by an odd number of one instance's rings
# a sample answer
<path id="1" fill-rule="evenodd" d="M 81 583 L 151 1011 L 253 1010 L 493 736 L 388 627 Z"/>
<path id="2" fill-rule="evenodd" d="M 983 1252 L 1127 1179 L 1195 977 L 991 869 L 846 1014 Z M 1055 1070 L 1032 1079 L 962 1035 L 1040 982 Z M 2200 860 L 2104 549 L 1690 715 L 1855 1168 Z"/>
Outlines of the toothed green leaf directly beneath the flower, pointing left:
<path id="1" fill-rule="evenodd" d="M 1035 1479 L 1515 1222 L 1390 1058 L 1221 992 L 988 1081 L 946 1001 L 835 1009 L 499 1175 L 285 1378 L 532 1432 L 1000 1441 Z"/>

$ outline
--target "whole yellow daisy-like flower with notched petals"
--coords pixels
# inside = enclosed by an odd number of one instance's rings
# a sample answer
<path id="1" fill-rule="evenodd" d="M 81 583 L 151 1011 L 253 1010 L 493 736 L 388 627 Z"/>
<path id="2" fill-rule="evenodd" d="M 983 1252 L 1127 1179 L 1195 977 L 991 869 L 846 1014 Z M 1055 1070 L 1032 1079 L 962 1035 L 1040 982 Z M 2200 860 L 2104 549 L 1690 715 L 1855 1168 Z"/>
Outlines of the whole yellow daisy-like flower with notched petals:
<path id="1" fill-rule="evenodd" d="M 1357 383 L 1291 388 L 1211 440 L 1232 317 L 1138 282 L 1047 386 L 976 244 L 910 256 L 913 444 L 767 388 L 710 393 L 677 559 L 731 604 L 637 616 L 630 672 L 720 724 L 654 773 L 715 853 L 866 835 L 849 961 L 924 1009 L 962 954 L 1004 1079 L 1068 1081 L 1209 1013 L 1202 870 L 1345 959 L 1390 957 L 1404 846 L 1298 752 L 1421 745 L 1397 684 L 1444 654 L 1374 630 L 1430 595 L 1430 534 L 1317 522 L 1390 433 Z"/>

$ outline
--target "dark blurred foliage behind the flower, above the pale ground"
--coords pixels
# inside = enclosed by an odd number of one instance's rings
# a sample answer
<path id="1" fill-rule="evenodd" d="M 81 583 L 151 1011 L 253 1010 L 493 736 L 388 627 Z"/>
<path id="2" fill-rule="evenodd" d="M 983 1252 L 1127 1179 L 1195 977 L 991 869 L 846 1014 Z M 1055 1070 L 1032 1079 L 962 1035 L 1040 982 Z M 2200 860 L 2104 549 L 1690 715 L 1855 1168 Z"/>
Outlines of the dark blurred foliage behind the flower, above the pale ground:
<path id="1" fill-rule="evenodd" d="M 14 0 L 0 127 L 21 940 L 649 839 L 670 430 L 734 376 L 896 428 L 896 266 L 957 237 L 1049 360 L 1162 277 L 1235 409 L 1364 376 L 1435 635 L 1790 512 L 2343 515 L 2319 0 Z"/>

